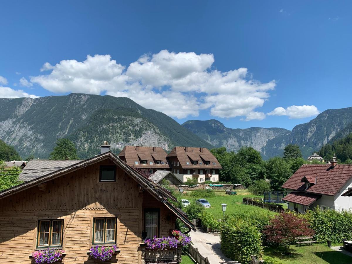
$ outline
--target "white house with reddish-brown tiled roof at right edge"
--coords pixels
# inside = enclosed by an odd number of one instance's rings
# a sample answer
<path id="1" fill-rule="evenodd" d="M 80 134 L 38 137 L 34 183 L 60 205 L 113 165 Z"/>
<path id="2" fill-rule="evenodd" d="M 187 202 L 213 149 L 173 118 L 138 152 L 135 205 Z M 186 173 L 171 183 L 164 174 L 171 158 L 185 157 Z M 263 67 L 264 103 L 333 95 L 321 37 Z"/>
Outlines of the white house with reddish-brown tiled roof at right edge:
<path id="1" fill-rule="evenodd" d="M 352 209 L 352 165 L 303 164 L 282 186 L 288 195 L 282 200 L 299 213 L 319 206 L 321 209 Z"/>

